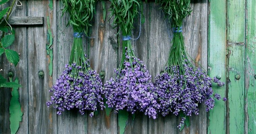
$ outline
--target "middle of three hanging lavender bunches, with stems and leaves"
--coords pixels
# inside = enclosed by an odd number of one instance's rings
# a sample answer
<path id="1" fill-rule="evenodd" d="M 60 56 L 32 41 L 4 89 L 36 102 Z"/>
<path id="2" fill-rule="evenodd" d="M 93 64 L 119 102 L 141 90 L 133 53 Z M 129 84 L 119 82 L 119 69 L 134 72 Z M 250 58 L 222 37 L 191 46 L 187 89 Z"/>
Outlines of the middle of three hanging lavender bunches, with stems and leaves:
<path id="1" fill-rule="evenodd" d="M 153 93 L 151 75 L 145 65 L 133 53 L 130 35 L 133 19 L 140 9 L 140 0 L 110 0 L 114 23 L 120 26 L 123 34 L 123 54 L 119 68 L 115 70 L 115 77 L 105 84 L 105 97 L 108 107 L 115 108 L 117 113 L 125 109 L 134 114 L 135 111 L 145 112 L 156 119 L 159 104 Z"/>

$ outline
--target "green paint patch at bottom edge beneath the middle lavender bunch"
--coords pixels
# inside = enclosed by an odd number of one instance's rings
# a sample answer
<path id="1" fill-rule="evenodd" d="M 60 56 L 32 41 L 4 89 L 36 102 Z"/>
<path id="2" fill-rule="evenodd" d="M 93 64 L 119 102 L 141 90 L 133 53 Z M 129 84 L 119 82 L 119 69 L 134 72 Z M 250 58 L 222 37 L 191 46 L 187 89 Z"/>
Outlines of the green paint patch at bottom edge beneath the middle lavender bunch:
<path id="1" fill-rule="evenodd" d="M 119 110 L 118 111 L 118 126 L 119 126 L 119 133 L 123 134 L 126 127 L 126 122 L 128 120 L 129 113 L 126 110 Z"/>

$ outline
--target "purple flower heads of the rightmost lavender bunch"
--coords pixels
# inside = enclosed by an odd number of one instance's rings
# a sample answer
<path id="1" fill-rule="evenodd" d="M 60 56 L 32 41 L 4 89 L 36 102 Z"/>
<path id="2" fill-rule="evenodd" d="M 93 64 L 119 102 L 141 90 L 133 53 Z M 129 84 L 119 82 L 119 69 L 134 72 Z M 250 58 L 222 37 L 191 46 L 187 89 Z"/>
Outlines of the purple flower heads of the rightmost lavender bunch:
<path id="1" fill-rule="evenodd" d="M 204 102 L 206 111 L 214 107 L 212 82 L 223 86 L 224 84 L 216 78 L 210 78 L 206 72 L 193 65 L 184 62 L 180 66 L 168 66 L 163 74 L 156 77 L 154 87 L 160 103 L 159 113 L 166 116 L 169 113 L 178 115 L 183 112 L 185 116 L 198 115 L 198 104 Z M 172 72 L 172 73 L 168 73 Z M 219 94 L 214 97 L 220 99 Z M 224 99 L 223 99 L 224 100 Z M 184 122 L 185 119 L 182 120 Z M 182 123 L 181 122 L 181 123 Z M 178 127 L 181 127 L 180 124 Z"/>

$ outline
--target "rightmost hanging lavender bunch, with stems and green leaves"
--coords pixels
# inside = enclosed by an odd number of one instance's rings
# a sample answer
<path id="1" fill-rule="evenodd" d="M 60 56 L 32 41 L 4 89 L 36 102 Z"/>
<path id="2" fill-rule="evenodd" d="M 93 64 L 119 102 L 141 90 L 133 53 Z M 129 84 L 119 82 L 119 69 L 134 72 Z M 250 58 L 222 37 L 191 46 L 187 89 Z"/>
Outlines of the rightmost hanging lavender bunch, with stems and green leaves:
<path id="1" fill-rule="evenodd" d="M 166 18 L 172 22 L 173 39 L 169 59 L 164 73 L 156 77 L 154 83 L 158 94 L 157 101 L 161 104 L 160 114 L 183 113 L 185 117 L 179 124 L 184 125 L 186 116 L 198 115 L 198 104 L 204 103 L 206 111 L 213 109 L 214 98 L 221 99 L 219 94 L 213 94 L 212 82 L 218 86 L 224 83 L 207 76 L 207 72 L 195 67 L 187 57 L 183 35 L 182 21 L 190 14 L 190 0 L 157 0 Z M 212 97 L 213 95 L 213 97 Z M 223 98 L 225 101 L 226 98 Z"/>

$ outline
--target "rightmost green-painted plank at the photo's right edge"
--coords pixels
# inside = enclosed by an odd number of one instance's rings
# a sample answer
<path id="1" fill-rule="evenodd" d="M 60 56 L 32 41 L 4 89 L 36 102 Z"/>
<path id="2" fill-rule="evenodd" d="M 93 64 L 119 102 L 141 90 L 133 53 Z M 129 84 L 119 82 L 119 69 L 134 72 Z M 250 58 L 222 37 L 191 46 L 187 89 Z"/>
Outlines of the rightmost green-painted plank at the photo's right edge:
<path id="1" fill-rule="evenodd" d="M 245 57 L 245 133 L 256 133 L 256 2 L 247 0 L 246 3 L 246 57 Z"/>

